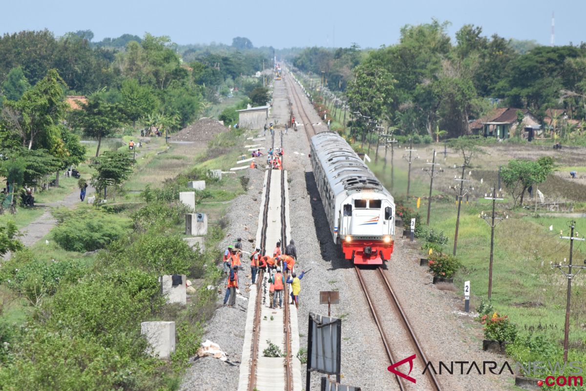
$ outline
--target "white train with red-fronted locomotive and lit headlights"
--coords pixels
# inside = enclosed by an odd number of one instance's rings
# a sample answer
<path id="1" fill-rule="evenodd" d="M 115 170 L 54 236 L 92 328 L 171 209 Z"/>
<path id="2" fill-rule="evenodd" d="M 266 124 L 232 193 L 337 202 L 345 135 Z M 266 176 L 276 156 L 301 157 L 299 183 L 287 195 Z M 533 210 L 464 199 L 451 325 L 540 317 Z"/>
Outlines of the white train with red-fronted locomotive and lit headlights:
<path id="1" fill-rule="evenodd" d="M 344 259 L 359 265 L 390 260 L 395 233 L 393 196 L 335 132 L 312 137 L 309 157 L 333 242 Z"/>

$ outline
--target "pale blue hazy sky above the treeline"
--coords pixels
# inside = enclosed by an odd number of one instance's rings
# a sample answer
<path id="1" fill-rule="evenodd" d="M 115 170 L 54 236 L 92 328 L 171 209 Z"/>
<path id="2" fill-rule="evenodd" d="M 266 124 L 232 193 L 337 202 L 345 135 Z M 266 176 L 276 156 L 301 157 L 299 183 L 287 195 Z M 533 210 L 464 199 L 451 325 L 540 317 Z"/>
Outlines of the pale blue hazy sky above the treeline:
<path id="1" fill-rule="evenodd" d="M 399 29 L 436 18 L 451 36 L 466 23 L 485 35 L 534 39 L 549 45 L 551 12 L 556 45 L 586 41 L 584 0 L 2 0 L 0 31 L 47 28 L 56 35 L 90 29 L 94 41 L 123 33 L 171 36 L 173 42 L 230 44 L 235 36 L 254 46 L 379 47 L 397 42 Z"/>

